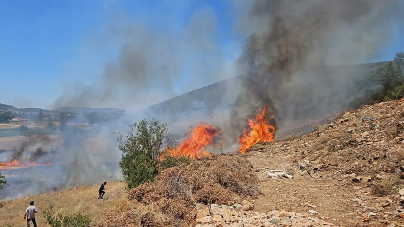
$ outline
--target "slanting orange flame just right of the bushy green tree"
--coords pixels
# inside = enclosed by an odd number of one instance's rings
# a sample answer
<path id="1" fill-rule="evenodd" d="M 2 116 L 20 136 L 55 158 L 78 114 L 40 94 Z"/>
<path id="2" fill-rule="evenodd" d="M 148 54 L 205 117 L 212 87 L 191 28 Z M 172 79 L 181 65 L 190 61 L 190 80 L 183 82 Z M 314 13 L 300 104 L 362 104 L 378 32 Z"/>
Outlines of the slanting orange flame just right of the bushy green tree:
<path id="1" fill-rule="evenodd" d="M 213 142 L 219 131 L 219 128 L 201 122 L 197 127 L 191 129 L 178 148 L 168 149 L 168 154 L 172 157 L 188 156 L 191 158 L 210 156 L 204 148 Z"/>

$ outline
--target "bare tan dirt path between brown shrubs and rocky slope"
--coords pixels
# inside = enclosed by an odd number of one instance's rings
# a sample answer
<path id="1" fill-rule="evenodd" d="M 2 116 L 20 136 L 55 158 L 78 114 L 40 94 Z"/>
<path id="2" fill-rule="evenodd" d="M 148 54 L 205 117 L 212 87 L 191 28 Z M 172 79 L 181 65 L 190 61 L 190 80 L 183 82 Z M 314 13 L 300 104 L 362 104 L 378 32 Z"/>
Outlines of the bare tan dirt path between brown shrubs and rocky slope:
<path id="1" fill-rule="evenodd" d="M 246 154 L 254 165 L 259 178 L 261 195 L 255 200 L 255 211 L 269 212 L 274 209 L 299 212 L 311 217 L 323 219 L 339 226 L 377 226 L 384 225 L 372 220 L 362 212 L 352 199 L 370 194 L 370 189 L 344 184 L 338 179 L 327 177 L 312 178 L 307 173 L 301 176 L 301 170 L 289 161 L 287 152 L 274 154 L 267 149 Z M 283 169 L 294 176 L 287 178 L 268 178 L 266 172 Z M 309 214 L 309 210 L 317 213 Z"/>

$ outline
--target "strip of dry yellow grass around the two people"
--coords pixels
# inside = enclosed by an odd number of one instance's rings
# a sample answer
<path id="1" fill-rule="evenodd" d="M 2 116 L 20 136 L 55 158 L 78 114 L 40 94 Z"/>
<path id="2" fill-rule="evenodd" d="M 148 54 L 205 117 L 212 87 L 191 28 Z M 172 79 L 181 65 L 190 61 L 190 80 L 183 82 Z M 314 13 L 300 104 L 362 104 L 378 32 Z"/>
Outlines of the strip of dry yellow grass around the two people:
<path id="1" fill-rule="evenodd" d="M 1 201 L 0 202 L 0 226 L 14 224 L 14 226 L 26 225 L 23 219 L 25 209 L 29 206 L 31 200 L 35 201 L 38 209 L 36 222 L 38 226 L 46 226 L 41 211 L 50 204 L 55 205 L 56 212 L 65 213 L 86 213 L 95 223 L 97 218 L 102 217 L 115 206 L 115 203 L 122 199 L 125 194 L 126 184 L 123 182 L 108 183 L 103 200 L 98 200 L 98 188 L 100 186 L 81 186 L 78 188 L 60 190 L 48 194 L 38 194 L 36 196 L 27 196 L 25 198 Z"/>

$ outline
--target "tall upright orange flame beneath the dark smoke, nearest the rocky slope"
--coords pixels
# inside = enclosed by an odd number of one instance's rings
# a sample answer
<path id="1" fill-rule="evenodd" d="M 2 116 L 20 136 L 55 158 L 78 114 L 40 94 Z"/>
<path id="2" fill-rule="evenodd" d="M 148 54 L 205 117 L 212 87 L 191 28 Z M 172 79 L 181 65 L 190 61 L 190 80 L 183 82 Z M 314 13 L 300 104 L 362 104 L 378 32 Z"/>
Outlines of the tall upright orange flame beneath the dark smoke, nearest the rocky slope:
<path id="1" fill-rule="evenodd" d="M 265 120 L 265 114 L 267 112 L 267 107 L 264 106 L 262 113 L 255 114 L 255 119 L 249 119 L 250 130 L 246 128 L 243 129 L 243 134 L 240 136 L 238 142 L 240 148 L 238 149 L 240 153 L 245 153 L 254 144 L 259 141 L 272 142 L 274 141 L 275 126 L 268 125 Z M 272 117 L 273 118 L 273 117 Z"/>

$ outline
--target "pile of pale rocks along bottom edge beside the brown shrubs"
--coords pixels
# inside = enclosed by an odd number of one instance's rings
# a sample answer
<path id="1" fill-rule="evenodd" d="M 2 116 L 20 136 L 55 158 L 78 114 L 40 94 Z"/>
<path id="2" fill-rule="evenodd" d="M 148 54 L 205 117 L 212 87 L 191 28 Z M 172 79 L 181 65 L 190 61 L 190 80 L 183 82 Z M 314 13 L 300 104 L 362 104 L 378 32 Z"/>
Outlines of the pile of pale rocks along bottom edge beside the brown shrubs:
<path id="1" fill-rule="evenodd" d="M 335 226 L 300 213 L 273 210 L 265 214 L 251 212 L 252 209 L 254 205 L 246 200 L 233 206 L 199 203 L 195 207 L 196 226 Z"/>

